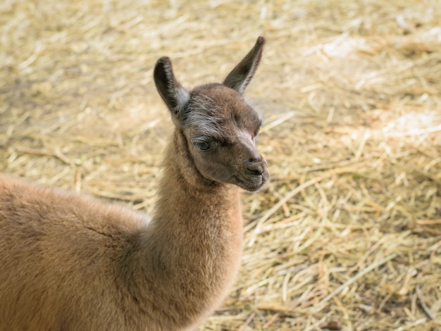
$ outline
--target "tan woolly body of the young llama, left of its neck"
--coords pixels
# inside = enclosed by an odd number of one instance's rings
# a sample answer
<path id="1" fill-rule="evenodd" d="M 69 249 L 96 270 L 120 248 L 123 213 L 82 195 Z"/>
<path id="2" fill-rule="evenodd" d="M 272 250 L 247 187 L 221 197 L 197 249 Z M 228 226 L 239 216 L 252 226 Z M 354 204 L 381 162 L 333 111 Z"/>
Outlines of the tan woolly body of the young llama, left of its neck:
<path id="1" fill-rule="evenodd" d="M 123 325 L 114 261 L 146 223 L 119 206 L 0 176 L 0 330 Z"/>

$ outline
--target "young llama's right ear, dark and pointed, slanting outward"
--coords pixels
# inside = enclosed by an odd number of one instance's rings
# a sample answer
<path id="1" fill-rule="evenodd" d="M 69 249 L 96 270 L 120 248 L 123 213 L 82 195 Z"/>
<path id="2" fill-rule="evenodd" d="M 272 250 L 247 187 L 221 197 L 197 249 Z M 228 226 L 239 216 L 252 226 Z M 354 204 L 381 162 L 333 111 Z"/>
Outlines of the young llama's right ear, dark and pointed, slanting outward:
<path id="1" fill-rule="evenodd" d="M 244 93 L 249 81 L 256 73 L 257 66 L 261 60 L 263 44 L 265 44 L 265 38 L 259 37 L 256 40 L 256 44 L 249 51 L 239 64 L 228 74 L 223 81 L 223 85 L 235 89 L 240 94 Z"/>

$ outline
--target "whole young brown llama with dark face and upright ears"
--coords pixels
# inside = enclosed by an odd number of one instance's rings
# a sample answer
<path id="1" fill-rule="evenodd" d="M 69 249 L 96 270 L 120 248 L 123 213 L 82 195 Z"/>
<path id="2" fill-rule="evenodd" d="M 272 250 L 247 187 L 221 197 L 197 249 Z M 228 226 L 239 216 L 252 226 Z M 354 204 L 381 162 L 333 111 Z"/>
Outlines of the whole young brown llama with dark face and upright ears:
<path id="1" fill-rule="evenodd" d="M 269 176 L 243 98 L 263 44 L 191 92 L 156 63 L 175 129 L 151 218 L 0 176 L 0 330 L 194 330 L 221 304 L 240 264 L 239 188 Z"/>

